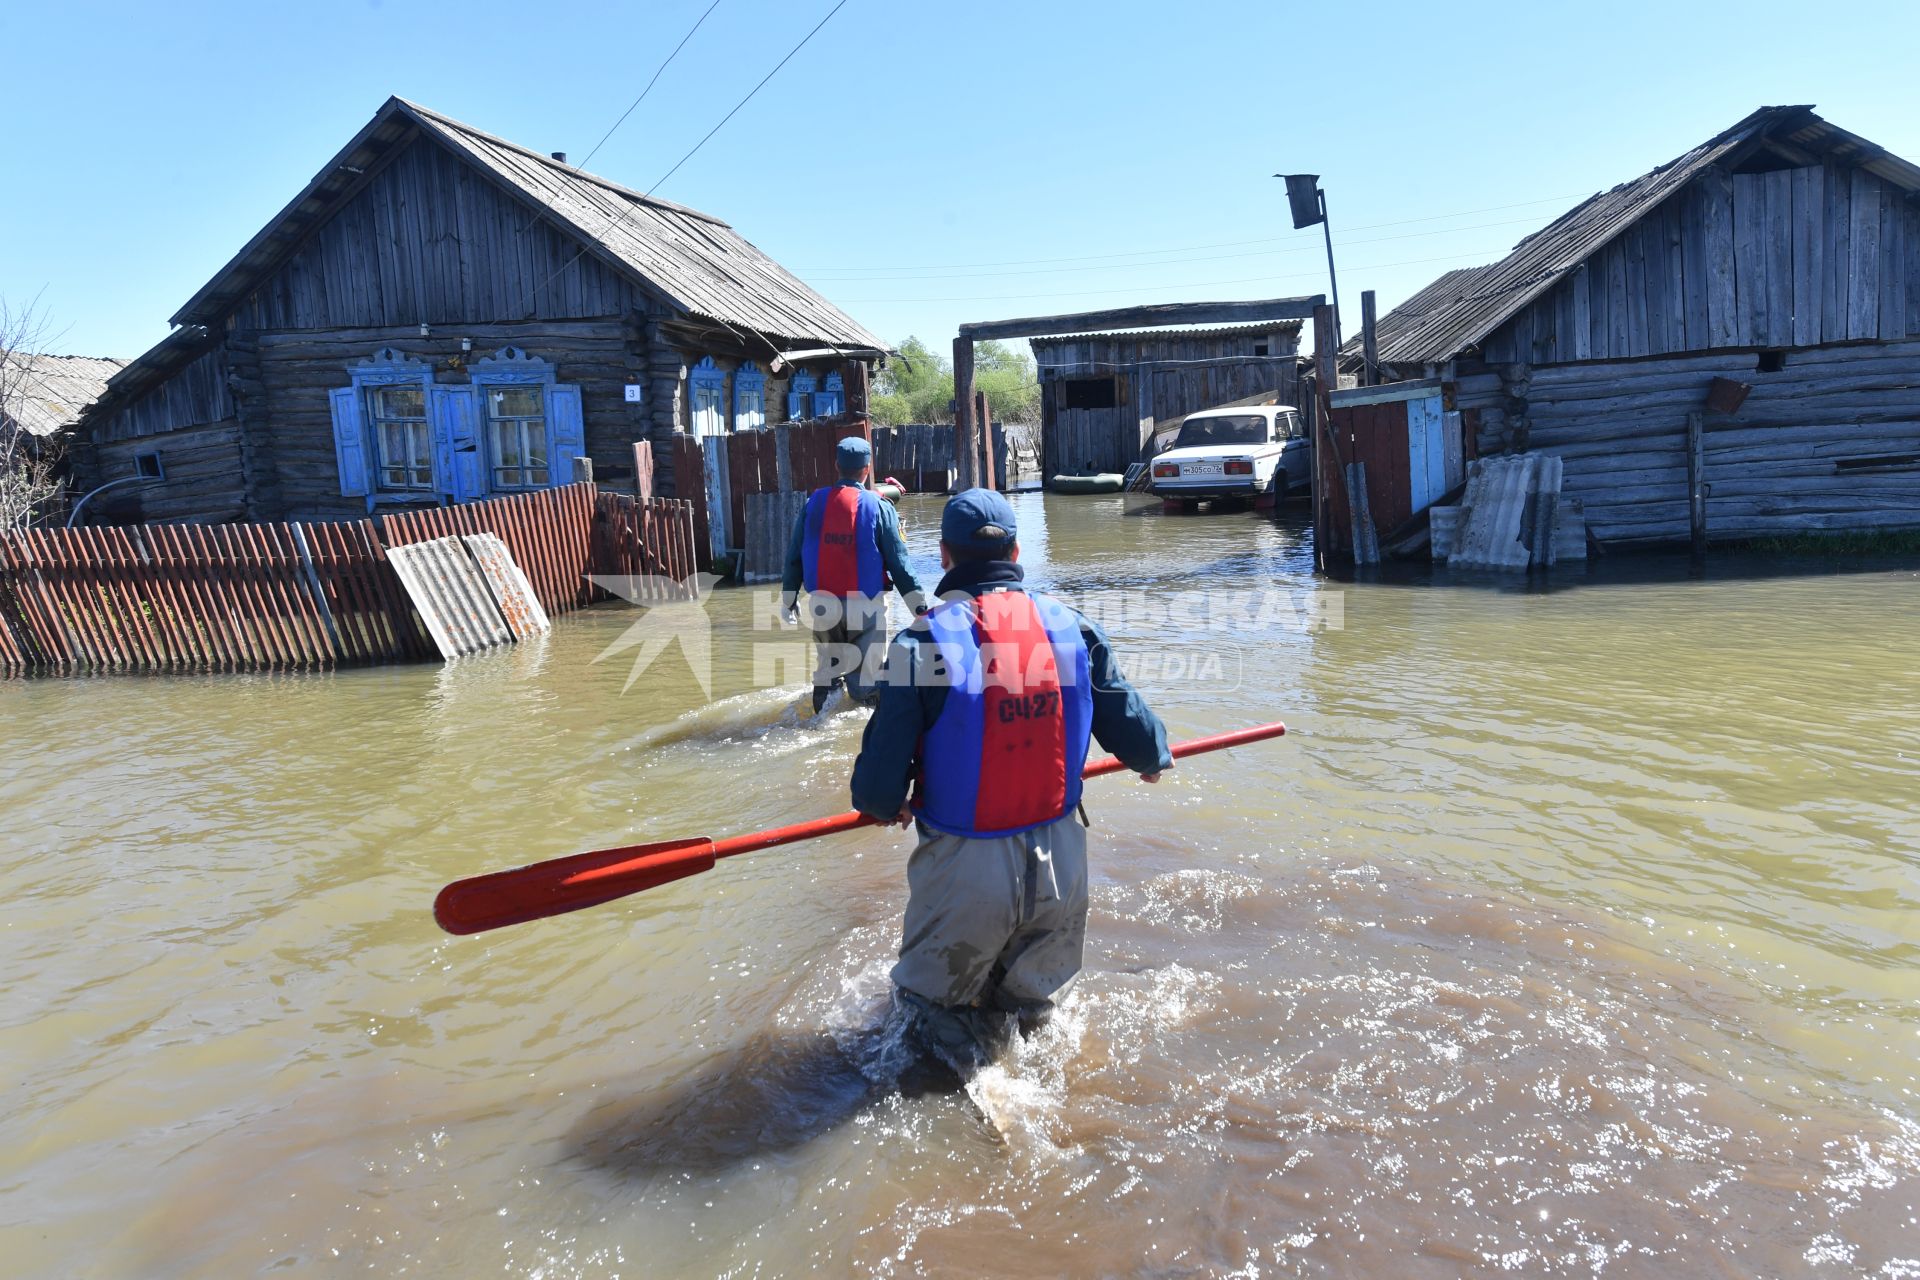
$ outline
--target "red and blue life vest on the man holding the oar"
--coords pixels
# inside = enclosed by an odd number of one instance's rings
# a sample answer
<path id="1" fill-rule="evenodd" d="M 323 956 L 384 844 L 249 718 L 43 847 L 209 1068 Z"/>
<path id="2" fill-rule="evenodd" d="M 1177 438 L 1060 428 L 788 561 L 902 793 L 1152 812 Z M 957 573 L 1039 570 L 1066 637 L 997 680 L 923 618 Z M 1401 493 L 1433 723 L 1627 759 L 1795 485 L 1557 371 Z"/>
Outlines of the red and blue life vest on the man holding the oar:
<path id="1" fill-rule="evenodd" d="M 920 739 L 916 816 L 948 835 L 1058 821 L 1081 796 L 1092 681 L 1079 618 L 1058 601 L 989 591 L 927 614 L 947 702 Z"/>

